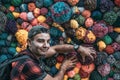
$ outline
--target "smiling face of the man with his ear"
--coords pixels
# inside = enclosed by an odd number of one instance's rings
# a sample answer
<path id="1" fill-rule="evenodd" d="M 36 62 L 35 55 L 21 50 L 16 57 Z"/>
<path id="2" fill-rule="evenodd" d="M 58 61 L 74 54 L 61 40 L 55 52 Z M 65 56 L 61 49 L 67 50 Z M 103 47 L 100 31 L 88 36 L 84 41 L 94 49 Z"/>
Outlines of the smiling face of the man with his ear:
<path id="1" fill-rule="evenodd" d="M 28 45 L 36 56 L 43 56 L 50 47 L 49 41 L 50 35 L 48 33 L 40 33 L 35 35 L 34 39 L 30 40 Z"/>

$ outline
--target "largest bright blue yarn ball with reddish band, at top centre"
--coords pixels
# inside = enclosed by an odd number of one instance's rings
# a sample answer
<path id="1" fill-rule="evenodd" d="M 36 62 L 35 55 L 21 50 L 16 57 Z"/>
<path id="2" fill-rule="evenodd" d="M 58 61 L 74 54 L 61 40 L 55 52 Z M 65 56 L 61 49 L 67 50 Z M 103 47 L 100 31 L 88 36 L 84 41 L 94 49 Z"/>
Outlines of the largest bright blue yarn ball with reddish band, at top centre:
<path id="1" fill-rule="evenodd" d="M 69 21 L 72 16 L 72 10 L 65 2 L 56 2 L 51 6 L 50 10 L 53 21 L 60 24 Z"/>

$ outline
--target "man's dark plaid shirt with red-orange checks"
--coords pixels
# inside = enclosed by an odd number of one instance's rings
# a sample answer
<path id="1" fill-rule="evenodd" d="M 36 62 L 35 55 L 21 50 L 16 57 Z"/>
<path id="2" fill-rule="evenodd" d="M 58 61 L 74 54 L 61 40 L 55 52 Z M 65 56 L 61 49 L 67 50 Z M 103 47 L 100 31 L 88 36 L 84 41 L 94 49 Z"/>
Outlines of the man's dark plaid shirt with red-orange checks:
<path id="1" fill-rule="evenodd" d="M 21 53 L 30 56 L 30 59 L 12 63 L 11 80 L 43 80 L 47 73 L 39 60 L 29 50 L 24 50 Z"/>

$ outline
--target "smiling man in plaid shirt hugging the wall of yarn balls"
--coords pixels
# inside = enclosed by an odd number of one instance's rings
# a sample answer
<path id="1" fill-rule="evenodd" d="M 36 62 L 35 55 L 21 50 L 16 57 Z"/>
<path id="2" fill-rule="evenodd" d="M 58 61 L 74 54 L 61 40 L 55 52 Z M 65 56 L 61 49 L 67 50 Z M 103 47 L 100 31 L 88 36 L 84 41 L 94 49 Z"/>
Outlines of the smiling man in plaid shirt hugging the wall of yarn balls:
<path id="1" fill-rule="evenodd" d="M 28 47 L 20 54 L 30 56 L 29 59 L 16 61 L 11 71 L 11 80 L 63 80 L 67 69 L 74 67 L 77 59 L 73 56 L 65 59 L 56 76 L 52 77 L 44 70 L 43 57 L 50 57 L 56 53 L 77 51 L 82 57 L 95 54 L 91 47 L 73 46 L 69 44 L 55 45 L 50 47 L 49 31 L 42 26 L 34 26 L 28 32 Z M 93 57 L 92 57 L 93 58 Z"/>

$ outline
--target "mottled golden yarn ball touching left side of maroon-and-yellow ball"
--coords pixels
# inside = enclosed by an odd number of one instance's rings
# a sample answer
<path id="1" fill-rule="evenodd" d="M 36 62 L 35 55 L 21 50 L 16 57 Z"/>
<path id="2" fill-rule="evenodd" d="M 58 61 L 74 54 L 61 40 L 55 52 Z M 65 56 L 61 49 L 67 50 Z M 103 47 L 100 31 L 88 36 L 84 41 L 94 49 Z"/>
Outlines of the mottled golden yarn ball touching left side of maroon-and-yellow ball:
<path id="1" fill-rule="evenodd" d="M 75 35 L 76 35 L 76 38 L 78 40 L 83 40 L 85 38 L 85 35 L 86 35 L 86 29 L 83 28 L 83 27 L 79 27 L 76 32 L 75 32 Z"/>

